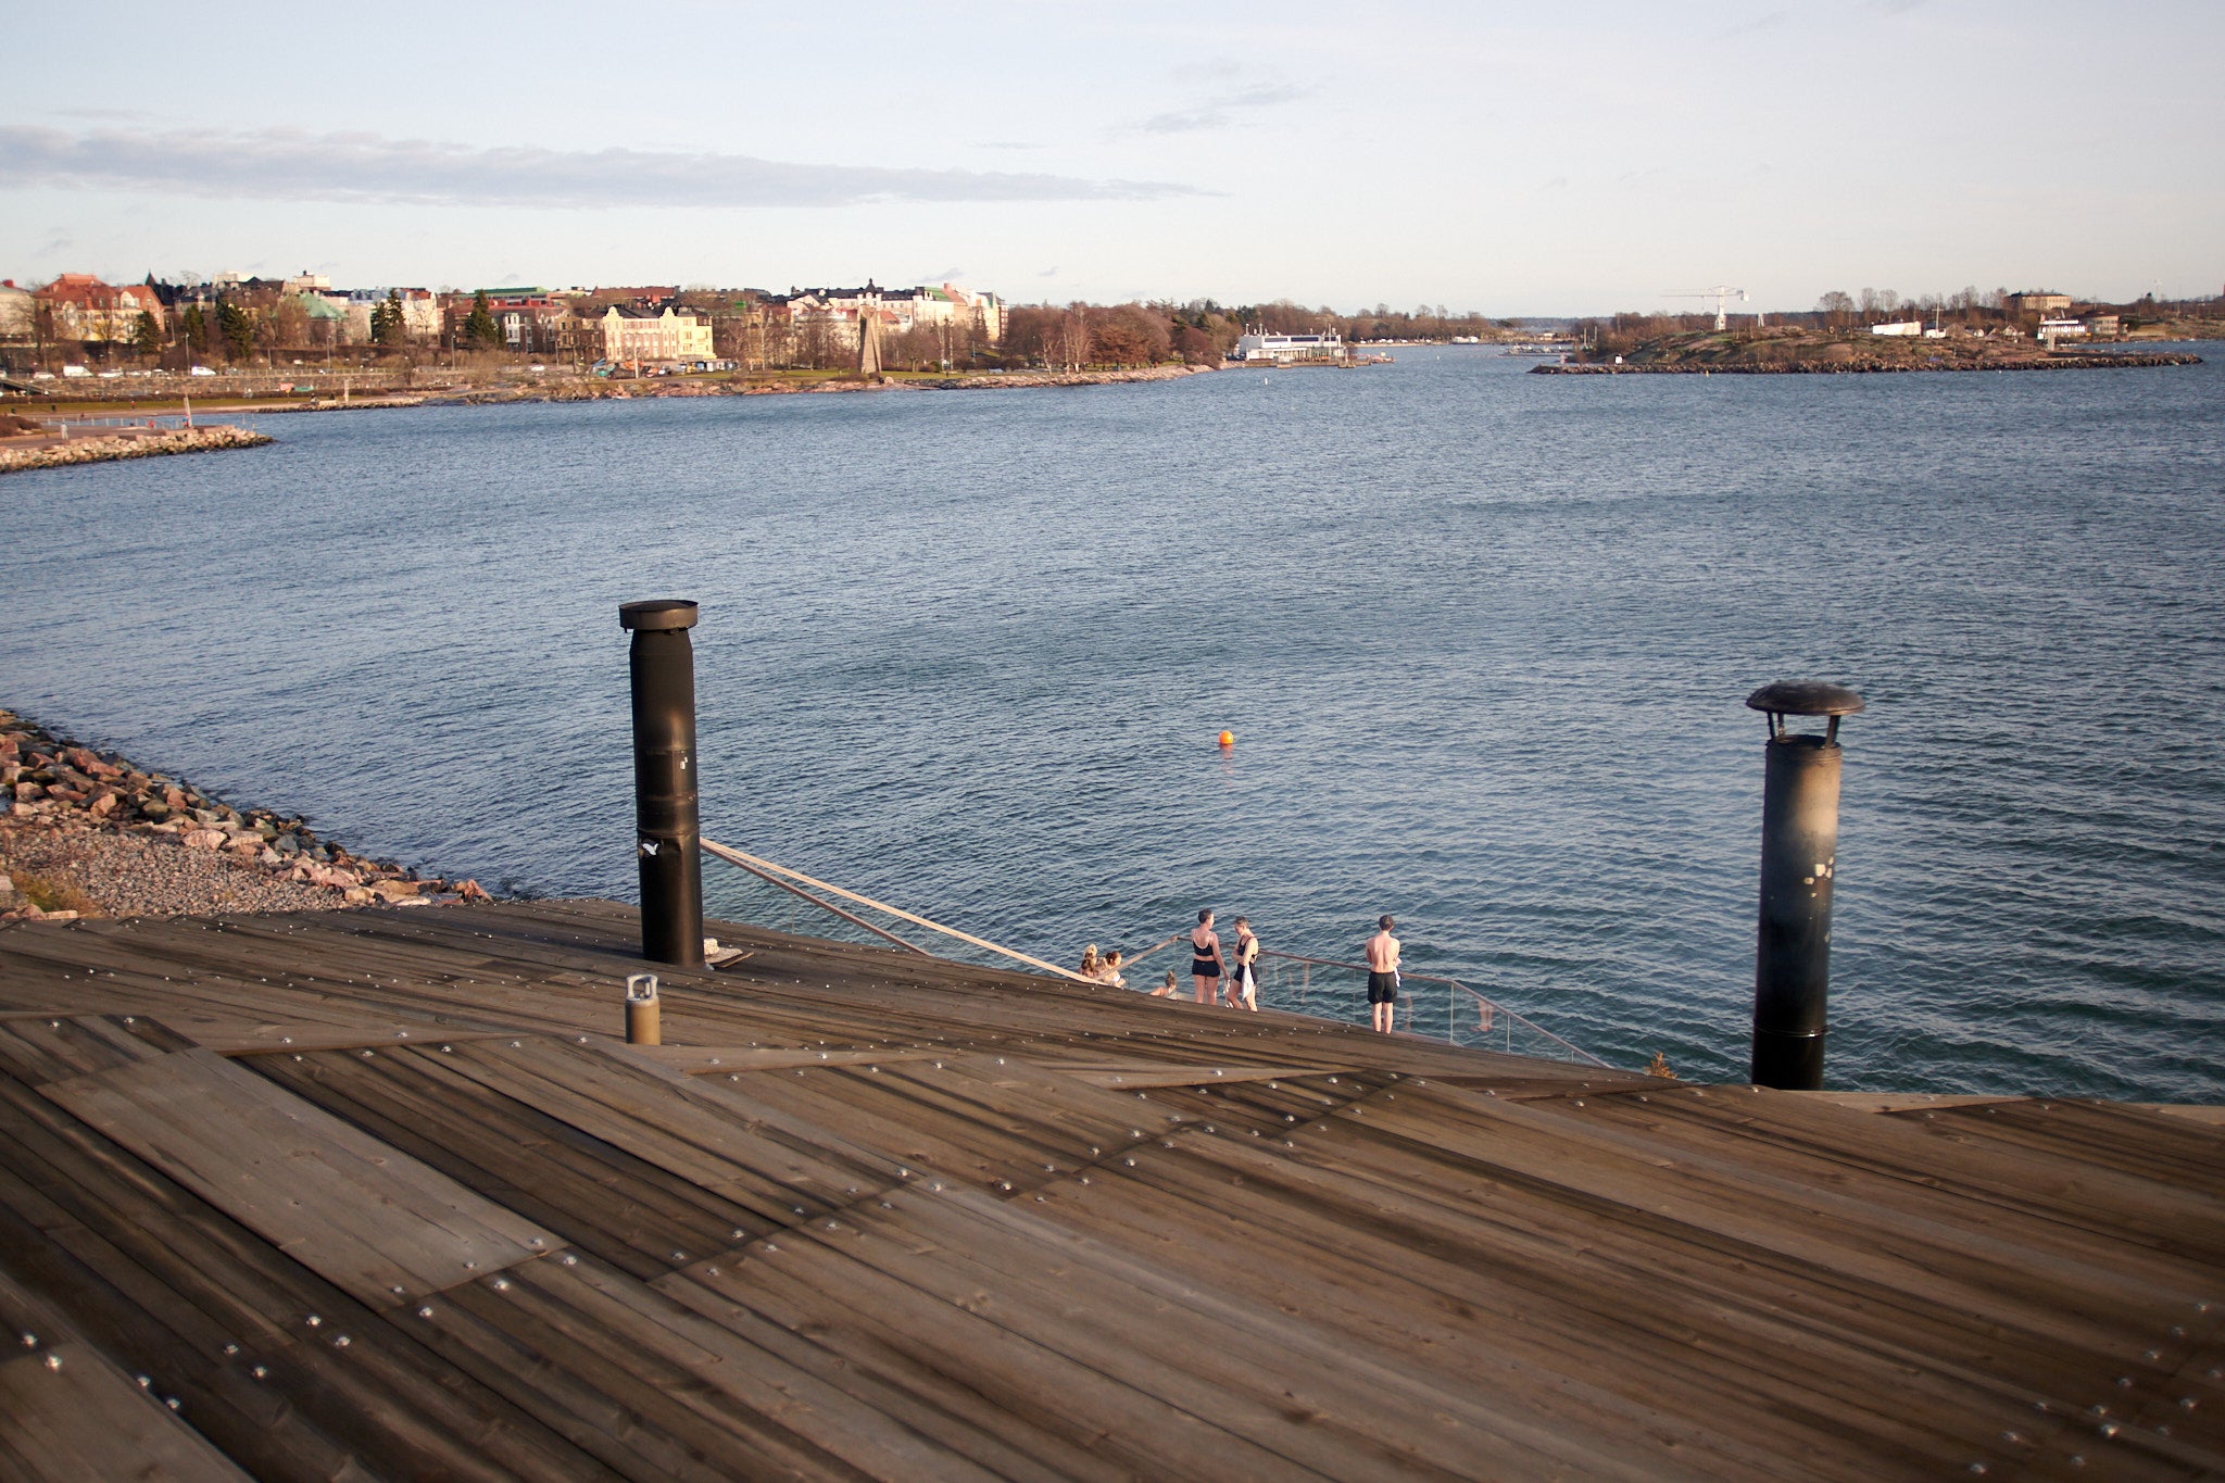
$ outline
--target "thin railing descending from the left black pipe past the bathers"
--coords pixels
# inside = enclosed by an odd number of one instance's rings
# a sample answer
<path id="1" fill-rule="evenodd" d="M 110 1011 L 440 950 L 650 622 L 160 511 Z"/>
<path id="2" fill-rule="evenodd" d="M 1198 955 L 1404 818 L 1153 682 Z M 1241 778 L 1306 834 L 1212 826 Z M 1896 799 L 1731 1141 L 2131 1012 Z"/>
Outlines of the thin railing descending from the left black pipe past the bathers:
<path id="1" fill-rule="evenodd" d="M 946 927 L 914 912 L 892 907 L 828 880 L 817 880 L 799 869 L 730 845 L 703 840 L 703 854 L 734 869 L 732 876 L 725 876 L 716 885 L 705 883 L 705 905 L 712 907 L 714 916 L 728 920 L 754 923 L 774 932 L 805 932 L 810 936 L 897 954 L 937 956 L 1001 969 L 1024 967 L 1072 983 L 1104 983 L 1104 978 L 1088 978 L 1070 967 L 1059 967 L 1015 947 Z M 932 954 L 921 947 L 926 934 L 937 934 L 939 938 Z M 1124 952 L 1119 974 L 1126 987 L 1137 992 L 1161 987 L 1164 967 L 1168 965 L 1150 961 L 1177 945 L 1188 945 L 1188 932 L 1173 932 L 1148 947 Z M 1119 943 L 1110 943 L 1108 947 L 1119 947 Z M 1226 949 L 1228 943 L 1224 940 Z M 1181 1001 L 1193 996 L 1186 967 L 1186 963 L 1173 963 L 1173 996 Z M 1339 1023 L 1366 1023 L 1366 963 L 1262 947 L 1255 965 L 1257 998 L 1266 1009 Z M 1402 989 L 1397 1014 L 1402 1032 L 1509 1056 L 1606 1067 L 1591 1052 L 1509 1009 L 1489 994 L 1468 987 L 1460 978 L 1406 972 L 1402 974 Z"/>

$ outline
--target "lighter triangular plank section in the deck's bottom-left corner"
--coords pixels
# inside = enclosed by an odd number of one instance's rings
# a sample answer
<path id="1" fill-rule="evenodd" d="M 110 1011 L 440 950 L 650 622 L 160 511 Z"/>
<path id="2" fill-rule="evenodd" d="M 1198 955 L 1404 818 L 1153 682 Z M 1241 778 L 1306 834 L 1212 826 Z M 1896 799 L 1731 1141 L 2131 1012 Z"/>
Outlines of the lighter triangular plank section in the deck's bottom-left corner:
<path id="1" fill-rule="evenodd" d="M 33 1483 L 247 1479 L 44 1301 L 0 1272 L 0 1472 Z"/>

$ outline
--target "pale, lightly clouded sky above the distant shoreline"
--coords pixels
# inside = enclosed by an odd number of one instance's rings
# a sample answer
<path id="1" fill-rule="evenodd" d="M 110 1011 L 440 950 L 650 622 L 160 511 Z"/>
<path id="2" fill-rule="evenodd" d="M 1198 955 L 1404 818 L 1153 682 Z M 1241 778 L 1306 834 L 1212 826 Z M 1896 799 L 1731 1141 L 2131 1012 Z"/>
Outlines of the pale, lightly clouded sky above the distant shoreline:
<path id="1" fill-rule="evenodd" d="M 102 33 L 0 89 L 4 278 L 1493 316 L 2225 280 L 2218 0 L 80 0 L 58 44 Z"/>

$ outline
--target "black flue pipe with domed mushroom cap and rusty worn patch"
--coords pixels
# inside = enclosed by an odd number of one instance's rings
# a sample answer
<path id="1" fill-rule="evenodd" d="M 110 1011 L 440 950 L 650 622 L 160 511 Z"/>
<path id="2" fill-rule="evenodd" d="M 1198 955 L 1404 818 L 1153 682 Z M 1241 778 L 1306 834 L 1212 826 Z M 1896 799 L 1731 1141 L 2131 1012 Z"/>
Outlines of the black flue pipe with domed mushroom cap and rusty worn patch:
<path id="1" fill-rule="evenodd" d="M 1747 696 L 1769 716 L 1762 769 L 1762 912 L 1753 947 L 1758 1087 L 1822 1087 L 1831 989 L 1831 880 L 1838 876 L 1838 723 L 1862 709 L 1845 685 L 1782 680 Z M 1829 716 L 1822 736 L 1787 716 Z"/>

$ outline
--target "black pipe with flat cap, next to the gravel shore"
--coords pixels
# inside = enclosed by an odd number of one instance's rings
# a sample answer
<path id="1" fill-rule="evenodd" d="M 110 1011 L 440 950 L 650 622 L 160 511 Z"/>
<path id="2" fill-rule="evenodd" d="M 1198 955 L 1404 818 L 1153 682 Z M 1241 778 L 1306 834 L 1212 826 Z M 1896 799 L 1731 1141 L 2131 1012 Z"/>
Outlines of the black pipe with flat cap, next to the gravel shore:
<path id="1" fill-rule="evenodd" d="M 625 603 L 634 680 L 634 860 L 641 867 L 641 956 L 703 967 L 703 847 L 696 818 L 696 605 Z"/>

